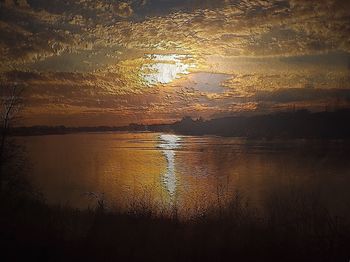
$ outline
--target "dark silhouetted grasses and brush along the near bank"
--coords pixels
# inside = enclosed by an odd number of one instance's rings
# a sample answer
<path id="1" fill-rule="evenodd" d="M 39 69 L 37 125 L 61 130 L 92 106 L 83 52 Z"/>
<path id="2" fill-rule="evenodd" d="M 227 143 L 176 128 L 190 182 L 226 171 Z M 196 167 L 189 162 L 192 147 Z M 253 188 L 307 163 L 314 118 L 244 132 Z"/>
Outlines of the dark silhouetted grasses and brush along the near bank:
<path id="1" fill-rule="evenodd" d="M 237 195 L 180 220 L 145 203 L 127 212 L 48 206 L 2 192 L 2 261 L 348 261 L 349 217 L 301 192 L 271 196 L 258 212 Z"/>

